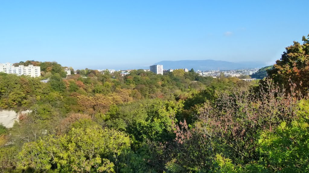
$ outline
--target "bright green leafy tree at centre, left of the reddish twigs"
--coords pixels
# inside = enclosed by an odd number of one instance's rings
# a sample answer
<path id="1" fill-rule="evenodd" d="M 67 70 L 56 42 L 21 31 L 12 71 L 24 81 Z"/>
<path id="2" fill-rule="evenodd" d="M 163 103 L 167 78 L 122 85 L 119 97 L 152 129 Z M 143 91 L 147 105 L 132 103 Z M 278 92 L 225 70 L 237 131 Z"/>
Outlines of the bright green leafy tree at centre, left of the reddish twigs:
<path id="1" fill-rule="evenodd" d="M 143 145 L 147 139 L 163 142 L 171 137 L 173 117 L 170 116 L 177 111 L 180 111 L 179 105 L 147 99 L 109 112 L 107 124 L 129 133 L 136 145 Z"/>

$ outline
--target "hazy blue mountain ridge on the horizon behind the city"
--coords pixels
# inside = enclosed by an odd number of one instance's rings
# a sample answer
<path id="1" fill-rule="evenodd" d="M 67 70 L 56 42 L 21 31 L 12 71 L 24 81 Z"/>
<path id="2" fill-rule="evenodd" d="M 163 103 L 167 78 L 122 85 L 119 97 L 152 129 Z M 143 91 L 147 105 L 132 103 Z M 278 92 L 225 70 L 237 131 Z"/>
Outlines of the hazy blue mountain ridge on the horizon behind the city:
<path id="1" fill-rule="evenodd" d="M 265 66 L 263 62 L 228 62 L 216 60 L 182 60 L 160 61 L 155 64 L 163 65 L 163 69 L 187 68 L 194 70 L 236 70 L 241 68 L 258 68 Z"/>

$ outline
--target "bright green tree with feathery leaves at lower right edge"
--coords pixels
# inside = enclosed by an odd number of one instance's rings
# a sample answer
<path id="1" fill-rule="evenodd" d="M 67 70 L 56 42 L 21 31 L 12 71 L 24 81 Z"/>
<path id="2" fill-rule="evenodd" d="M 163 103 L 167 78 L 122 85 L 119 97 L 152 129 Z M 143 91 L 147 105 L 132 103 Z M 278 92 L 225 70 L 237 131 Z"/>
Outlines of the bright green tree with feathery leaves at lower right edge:
<path id="1" fill-rule="evenodd" d="M 299 107 L 298 117 L 291 123 L 283 121 L 260 136 L 259 151 L 274 172 L 309 170 L 309 102 L 302 100 Z"/>

